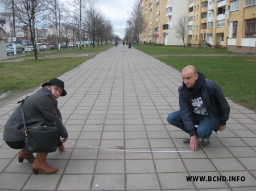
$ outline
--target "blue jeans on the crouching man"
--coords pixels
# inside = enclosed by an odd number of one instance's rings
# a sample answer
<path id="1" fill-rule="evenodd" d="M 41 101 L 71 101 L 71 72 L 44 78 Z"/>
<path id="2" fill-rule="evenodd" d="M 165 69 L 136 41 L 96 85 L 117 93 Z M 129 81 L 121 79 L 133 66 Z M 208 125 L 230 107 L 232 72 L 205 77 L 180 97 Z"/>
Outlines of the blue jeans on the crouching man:
<path id="1" fill-rule="evenodd" d="M 210 137 L 212 131 L 214 129 L 217 129 L 219 125 L 216 124 L 216 122 L 214 122 L 213 120 L 211 120 L 209 116 L 205 116 L 202 114 L 193 113 L 193 120 L 194 124 L 198 125 L 197 128 L 195 128 L 197 135 L 203 139 Z M 168 114 L 167 121 L 169 124 L 174 125 L 177 128 L 180 128 L 181 130 L 188 133 L 187 129 L 185 129 L 185 126 L 183 125 L 183 122 L 181 120 L 180 111 Z"/>

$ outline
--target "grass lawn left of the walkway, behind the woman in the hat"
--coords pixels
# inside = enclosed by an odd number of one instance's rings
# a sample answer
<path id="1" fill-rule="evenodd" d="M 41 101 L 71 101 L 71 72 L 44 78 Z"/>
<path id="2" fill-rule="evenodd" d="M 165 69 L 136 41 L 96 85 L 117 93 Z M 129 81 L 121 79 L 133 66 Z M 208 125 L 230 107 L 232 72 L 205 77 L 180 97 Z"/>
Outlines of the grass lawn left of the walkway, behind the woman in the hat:
<path id="1" fill-rule="evenodd" d="M 81 63 L 93 58 L 98 52 L 102 52 L 112 45 L 91 46 L 82 49 L 70 48 L 61 50 L 40 51 L 38 60 L 35 60 L 34 53 L 26 53 L 23 61 L 0 62 L 0 95 L 5 92 L 24 91 L 39 86 L 51 78 L 59 77 L 61 74 L 81 65 Z M 90 56 L 67 57 L 67 54 L 93 53 Z M 45 56 L 61 56 L 59 58 L 44 58 Z M 29 59 L 32 58 L 32 59 Z M 11 60 L 11 58 L 10 58 Z"/>

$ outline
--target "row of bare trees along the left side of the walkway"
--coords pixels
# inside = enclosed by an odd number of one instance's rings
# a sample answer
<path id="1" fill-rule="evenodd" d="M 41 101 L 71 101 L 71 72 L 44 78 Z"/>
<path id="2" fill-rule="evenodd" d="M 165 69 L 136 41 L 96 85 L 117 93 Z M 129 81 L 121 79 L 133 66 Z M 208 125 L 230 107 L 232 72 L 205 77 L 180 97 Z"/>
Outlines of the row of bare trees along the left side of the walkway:
<path id="1" fill-rule="evenodd" d="M 113 25 L 101 11 L 94 0 L 0 0 L 6 10 L 13 12 L 13 26 L 16 22 L 28 26 L 32 45 L 36 52 L 36 26 L 52 26 L 56 31 L 56 44 L 77 40 L 80 45 L 90 40 L 94 44 L 108 44 L 114 38 Z M 72 35 L 71 35 L 72 33 Z M 15 36 L 15 33 L 14 33 Z M 73 39 L 70 37 L 73 36 Z M 81 46 L 80 46 L 81 48 Z"/>

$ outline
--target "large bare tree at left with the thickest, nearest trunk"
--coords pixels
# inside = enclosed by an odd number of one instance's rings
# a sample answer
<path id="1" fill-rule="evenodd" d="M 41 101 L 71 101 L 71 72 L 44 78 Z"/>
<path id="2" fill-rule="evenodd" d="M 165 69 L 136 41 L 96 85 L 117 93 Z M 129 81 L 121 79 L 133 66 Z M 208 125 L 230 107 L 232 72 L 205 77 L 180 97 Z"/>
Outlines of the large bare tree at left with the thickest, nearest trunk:
<path id="1" fill-rule="evenodd" d="M 48 2 L 42 0 L 16 0 L 14 9 L 16 18 L 18 18 L 21 23 L 26 24 L 30 29 L 35 59 L 38 59 L 35 42 L 35 24 L 39 22 L 39 20 L 44 20 L 43 14 L 48 10 Z"/>

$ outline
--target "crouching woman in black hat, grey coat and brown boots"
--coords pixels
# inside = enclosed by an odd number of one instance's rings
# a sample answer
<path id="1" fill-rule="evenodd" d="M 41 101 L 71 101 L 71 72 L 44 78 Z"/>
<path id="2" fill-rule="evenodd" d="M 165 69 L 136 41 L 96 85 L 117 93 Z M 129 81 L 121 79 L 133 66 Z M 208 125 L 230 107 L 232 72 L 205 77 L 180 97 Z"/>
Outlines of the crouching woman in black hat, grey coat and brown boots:
<path id="1" fill-rule="evenodd" d="M 62 117 L 57 108 L 57 99 L 60 96 L 67 95 L 64 89 L 64 82 L 60 79 L 53 78 L 42 85 L 38 91 L 28 96 L 23 102 L 24 116 L 27 127 L 36 126 L 56 126 L 59 130 L 58 150 L 64 151 L 64 142 L 68 140 L 68 132 L 62 123 Z M 14 149 L 22 149 L 19 152 L 19 162 L 24 159 L 33 163 L 32 169 L 35 174 L 39 171 L 43 173 L 55 173 L 58 171 L 56 167 L 51 167 L 46 162 L 48 152 L 38 152 L 36 157 L 32 152 L 28 152 L 25 148 L 25 135 L 23 129 L 21 107 L 15 109 L 13 114 L 7 120 L 3 130 L 3 140 L 6 144 Z"/>

